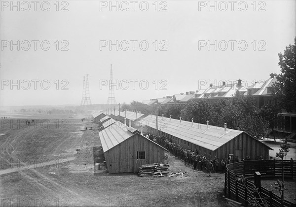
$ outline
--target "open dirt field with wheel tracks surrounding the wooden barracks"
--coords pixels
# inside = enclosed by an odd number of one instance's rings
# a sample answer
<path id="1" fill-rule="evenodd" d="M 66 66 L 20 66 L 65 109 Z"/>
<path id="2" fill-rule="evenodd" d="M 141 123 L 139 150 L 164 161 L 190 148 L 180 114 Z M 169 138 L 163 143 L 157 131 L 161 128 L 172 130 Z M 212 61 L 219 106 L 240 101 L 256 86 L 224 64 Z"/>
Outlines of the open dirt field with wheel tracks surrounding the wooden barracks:
<path id="1" fill-rule="evenodd" d="M 104 165 L 94 172 L 93 147 L 101 146 L 96 124 L 69 118 L 67 124 L 61 124 L 62 118 L 59 124 L 55 118 L 48 120 L 49 127 L 1 126 L 1 207 L 13 202 L 15 206 L 59 207 L 227 206 L 222 198 L 223 174 L 209 177 L 172 155 L 169 170 L 186 171 L 187 177 L 108 174 Z M 91 125 L 93 130 L 84 130 Z M 81 149 L 79 154 L 76 148 Z"/>

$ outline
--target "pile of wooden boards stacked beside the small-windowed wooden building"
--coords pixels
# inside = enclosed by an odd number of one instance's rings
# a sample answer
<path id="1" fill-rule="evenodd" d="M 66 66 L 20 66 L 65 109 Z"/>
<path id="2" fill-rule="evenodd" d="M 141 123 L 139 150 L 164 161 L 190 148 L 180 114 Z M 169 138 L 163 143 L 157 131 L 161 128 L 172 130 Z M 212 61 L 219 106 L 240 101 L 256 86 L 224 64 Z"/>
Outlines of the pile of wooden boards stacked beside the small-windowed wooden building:
<path id="1" fill-rule="evenodd" d="M 140 177 L 165 177 L 169 174 L 169 165 L 167 164 L 146 164 L 139 168 Z"/>

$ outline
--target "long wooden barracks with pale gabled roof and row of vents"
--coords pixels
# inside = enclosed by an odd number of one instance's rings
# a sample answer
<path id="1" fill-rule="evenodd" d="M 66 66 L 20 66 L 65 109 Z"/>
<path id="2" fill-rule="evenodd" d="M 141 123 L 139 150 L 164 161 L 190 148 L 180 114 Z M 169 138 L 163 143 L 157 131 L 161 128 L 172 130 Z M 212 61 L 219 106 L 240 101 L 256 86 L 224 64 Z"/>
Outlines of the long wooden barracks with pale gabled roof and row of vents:
<path id="1" fill-rule="evenodd" d="M 171 138 L 172 142 L 185 149 L 197 150 L 199 154 L 214 158 L 249 156 L 256 159 L 269 158 L 269 148 L 244 131 L 217 127 L 190 121 L 148 115 L 139 119 L 143 130 Z"/>

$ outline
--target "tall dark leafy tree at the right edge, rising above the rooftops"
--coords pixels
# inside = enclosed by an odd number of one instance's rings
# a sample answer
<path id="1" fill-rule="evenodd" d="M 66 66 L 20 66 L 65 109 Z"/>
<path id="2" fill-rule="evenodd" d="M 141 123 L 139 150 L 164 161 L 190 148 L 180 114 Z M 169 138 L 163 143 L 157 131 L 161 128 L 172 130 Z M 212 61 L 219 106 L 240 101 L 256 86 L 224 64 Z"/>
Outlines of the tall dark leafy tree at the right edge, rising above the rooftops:
<path id="1" fill-rule="evenodd" d="M 296 111 L 296 37 L 295 45 L 289 45 L 284 54 L 279 53 L 281 74 L 275 74 L 277 82 L 271 86 L 272 93 L 287 112 Z"/>

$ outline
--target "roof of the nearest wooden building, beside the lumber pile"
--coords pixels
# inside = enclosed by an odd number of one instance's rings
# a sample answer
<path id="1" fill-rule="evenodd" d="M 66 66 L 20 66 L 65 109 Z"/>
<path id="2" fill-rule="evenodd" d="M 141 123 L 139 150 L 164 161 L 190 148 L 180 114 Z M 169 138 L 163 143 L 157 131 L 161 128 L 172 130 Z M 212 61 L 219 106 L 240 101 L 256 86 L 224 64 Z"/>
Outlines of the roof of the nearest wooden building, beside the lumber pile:
<path id="1" fill-rule="evenodd" d="M 103 151 L 106 152 L 109 149 L 117 146 L 118 144 L 122 143 L 123 141 L 127 140 L 128 138 L 132 137 L 134 134 L 140 132 L 132 127 L 127 127 L 119 121 L 116 121 L 114 124 L 110 125 L 109 127 L 105 128 L 104 130 L 99 132 L 99 137 L 102 143 Z M 144 139 L 147 139 L 149 142 L 154 143 L 155 145 L 161 147 L 157 143 L 149 140 L 148 138 L 141 135 Z M 163 148 L 165 149 L 165 148 Z M 167 149 L 165 149 L 167 151 Z"/>

